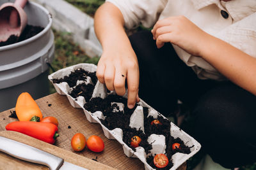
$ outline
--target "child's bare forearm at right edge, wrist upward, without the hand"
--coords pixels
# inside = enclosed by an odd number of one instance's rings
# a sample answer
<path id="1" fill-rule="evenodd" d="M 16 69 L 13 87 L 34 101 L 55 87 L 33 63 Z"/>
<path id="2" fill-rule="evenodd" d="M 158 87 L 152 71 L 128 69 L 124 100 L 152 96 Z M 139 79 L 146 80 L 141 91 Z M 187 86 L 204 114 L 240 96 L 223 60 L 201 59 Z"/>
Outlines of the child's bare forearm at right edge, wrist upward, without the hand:
<path id="1" fill-rule="evenodd" d="M 208 35 L 200 56 L 230 81 L 256 96 L 256 59 L 236 47 Z"/>

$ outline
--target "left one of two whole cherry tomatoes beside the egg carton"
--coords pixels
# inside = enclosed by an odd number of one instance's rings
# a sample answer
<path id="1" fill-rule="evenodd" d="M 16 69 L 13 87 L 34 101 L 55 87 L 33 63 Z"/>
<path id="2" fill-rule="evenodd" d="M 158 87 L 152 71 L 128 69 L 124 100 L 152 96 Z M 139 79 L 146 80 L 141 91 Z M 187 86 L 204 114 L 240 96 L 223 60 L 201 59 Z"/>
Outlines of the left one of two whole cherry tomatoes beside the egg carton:
<path id="1" fill-rule="evenodd" d="M 75 151 L 81 151 L 86 146 L 86 138 L 83 134 L 77 133 L 71 139 L 71 146 Z"/>

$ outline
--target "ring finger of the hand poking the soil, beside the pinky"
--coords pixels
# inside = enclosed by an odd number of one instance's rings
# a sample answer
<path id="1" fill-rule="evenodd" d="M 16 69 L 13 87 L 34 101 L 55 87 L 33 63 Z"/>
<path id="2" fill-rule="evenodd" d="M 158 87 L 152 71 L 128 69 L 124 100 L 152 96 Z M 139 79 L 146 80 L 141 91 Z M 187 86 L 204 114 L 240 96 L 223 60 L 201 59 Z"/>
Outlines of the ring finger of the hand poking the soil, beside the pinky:
<path id="1" fill-rule="evenodd" d="M 105 69 L 104 80 L 108 90 L 114 90 L 115 67 L 108 64 Z"/>

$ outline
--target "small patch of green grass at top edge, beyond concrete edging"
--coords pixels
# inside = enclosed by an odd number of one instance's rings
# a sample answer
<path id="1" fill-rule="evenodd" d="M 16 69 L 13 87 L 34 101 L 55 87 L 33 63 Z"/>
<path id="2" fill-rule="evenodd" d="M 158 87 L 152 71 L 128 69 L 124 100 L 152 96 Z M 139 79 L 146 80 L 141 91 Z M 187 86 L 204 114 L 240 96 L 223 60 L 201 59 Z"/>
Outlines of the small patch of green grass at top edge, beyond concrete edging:
<path id="1" fill-rule="evenodd" d="M 65 0 L 70 4 L 73 4 L 79 10 L 87 13 L 88 15 L 94 15 L 95 11 L 101 4 L 103 4 L 104 0 Z"/>

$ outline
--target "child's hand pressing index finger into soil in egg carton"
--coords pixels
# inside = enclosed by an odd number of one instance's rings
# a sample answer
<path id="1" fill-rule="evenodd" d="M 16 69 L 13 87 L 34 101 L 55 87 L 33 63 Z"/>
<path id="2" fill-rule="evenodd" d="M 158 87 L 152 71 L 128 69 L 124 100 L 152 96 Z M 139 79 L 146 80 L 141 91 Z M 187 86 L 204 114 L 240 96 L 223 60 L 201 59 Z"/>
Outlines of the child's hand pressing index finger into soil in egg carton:
<path id="1" fill-rule="evenodd" d="M 134 107 L 135 102 L 140 101 L 138 97 L 139 67 L 136 54 L 132 48 L 124 47 L 122 43 L 109 46 L 103 50 L 97 67 L 97 78 L 105 83 L 108 90 L 115 90 L 116 94 L 125 94 L 125 80 L 128 86 L 128 107 Z"/>

